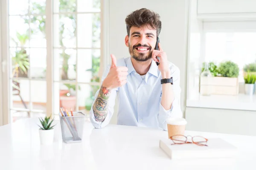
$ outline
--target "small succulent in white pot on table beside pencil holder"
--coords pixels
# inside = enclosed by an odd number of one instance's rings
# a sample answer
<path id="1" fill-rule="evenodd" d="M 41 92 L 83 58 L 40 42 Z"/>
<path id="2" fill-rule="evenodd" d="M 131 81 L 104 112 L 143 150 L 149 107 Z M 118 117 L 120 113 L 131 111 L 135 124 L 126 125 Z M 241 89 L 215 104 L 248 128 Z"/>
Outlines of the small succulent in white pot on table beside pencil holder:
<path id="1" fill-rule="evenodd" d="M 53 137 L 54 137 L 54 129 L 52 125 L 52 122 L 54 119 L 52 119 L 50 121 L 50 117 L 47 117 L 45 116 L 45 118 L 39 118 L 40 122 L 41 122 L 41 125 L 38 125 L 40 128 L 39 128 L 39 136 L 40 136 L 40 141 L 41 141 L 41 144 L 43 145 L 49 145 L 49 144 L 52 144 L 53 142 Z M 50 122 L 49 122 L 50 121 Z"/>

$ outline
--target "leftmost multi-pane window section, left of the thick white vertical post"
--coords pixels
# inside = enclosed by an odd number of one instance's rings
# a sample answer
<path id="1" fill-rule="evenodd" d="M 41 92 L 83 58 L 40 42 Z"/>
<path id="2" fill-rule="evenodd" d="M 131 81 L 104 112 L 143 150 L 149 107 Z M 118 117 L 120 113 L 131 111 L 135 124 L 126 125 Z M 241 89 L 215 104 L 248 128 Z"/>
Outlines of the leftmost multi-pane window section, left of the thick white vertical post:
<path id="1" fill-rule="evenodd" d="M 46 114 L 45 0 L 9 1 L 11 121 Z"/>

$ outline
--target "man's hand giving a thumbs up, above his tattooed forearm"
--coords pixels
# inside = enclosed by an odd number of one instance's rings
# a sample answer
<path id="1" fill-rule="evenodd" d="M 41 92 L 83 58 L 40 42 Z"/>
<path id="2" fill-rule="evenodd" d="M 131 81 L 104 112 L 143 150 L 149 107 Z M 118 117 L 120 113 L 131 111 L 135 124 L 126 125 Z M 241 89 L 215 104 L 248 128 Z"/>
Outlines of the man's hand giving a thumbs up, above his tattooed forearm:
<path id="1" fill-rule="evenodd" d="M 127 67 L 116 67 L 116 57 L 113 54 L 111 54 L 111 60 L 112 62 L 108 76 L 102 82 L 102 86 L 109 90 L 124 85 L 128 75 Z"/>

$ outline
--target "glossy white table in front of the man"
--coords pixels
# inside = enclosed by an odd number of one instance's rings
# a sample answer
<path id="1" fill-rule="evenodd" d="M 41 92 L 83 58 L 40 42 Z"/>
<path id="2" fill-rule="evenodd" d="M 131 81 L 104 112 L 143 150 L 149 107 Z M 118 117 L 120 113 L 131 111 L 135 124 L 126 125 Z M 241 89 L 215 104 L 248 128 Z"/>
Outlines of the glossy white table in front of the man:
<path id="1" fill-rule="evenodd" d="M 256 136 L 186 131 L 186 135 L 221 137 L 239 148 L 238 159 L 169 159 L 159 148 L 167 132 L 144 127 L 85 123 L 83 141 L 66 144 L 59 121 L 51 146 L 40 144 L 38 119 L 0 127 L 0 170 L 170 170 L 256 169 Z"/>

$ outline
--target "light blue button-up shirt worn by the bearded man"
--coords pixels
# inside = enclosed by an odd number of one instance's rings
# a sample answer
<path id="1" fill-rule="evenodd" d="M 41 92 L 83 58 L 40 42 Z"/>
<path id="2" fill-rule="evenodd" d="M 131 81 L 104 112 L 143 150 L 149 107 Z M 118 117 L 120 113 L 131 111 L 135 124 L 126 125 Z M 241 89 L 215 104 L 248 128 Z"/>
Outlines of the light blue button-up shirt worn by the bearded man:
<path id="1" fill-rule="evenodd" d="M 108 65 L 105 69 L 102 82 L 107 77 L 110 66 Z M 103 122 L 95 120 L 93 107 L 91 108 L 90 121 L 94 127 L 102 128 L 108 125 L 113 115 L 116 96 L 119 104 L 117 125 L 153 127 L 167 130 L 166 119 L 169 117 L 182 117 L 180 109 L 180 70 L 172 62 L 169 62 L 169 68 L 171 77 L 173 77 L 172 88 L 175 99 L 170 110 L 165 110 L 161 105 L 162 85 L 160 80 L 162 75 L 154 60 L 152 60 L 144 79 L 134 70 L 131 57 L 118 59 L 116 66 L 126 66 L 128 68 L 127 83 L 111 91 L 108 99 L 108 115 Z M 98 94 L 99 90 L 95 94 L 95 99 Z"/>

